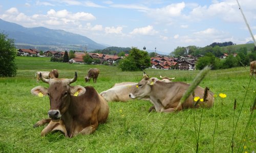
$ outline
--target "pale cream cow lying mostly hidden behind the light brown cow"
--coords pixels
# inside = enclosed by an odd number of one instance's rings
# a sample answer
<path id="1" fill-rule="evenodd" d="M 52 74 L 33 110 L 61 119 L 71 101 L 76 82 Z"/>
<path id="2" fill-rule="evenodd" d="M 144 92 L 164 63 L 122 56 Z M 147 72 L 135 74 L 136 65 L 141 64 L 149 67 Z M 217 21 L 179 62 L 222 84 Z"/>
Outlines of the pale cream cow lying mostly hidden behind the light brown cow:
<path id="1" fill-rule="evenodd" d="M 144 73 L 145 75 L 145 73 Z M 161 82 L 170 82 L 170 80 L 173 80 L 175 78 L 167 78 L 167 77 L 161 77 L 162 80 L 159 80 Z M 122 82 L 122 83 L 116 83 L 112 88 L 106 91 L 102 91 L 100 95 L 106 99 L 106 101 L 128 101 L 132 99 L 129 94 L 133 91 L 137 90 L 138 83 L 135 82 Z M 143 98 L 144 100 L 148 100 L 148 98 Z"/>

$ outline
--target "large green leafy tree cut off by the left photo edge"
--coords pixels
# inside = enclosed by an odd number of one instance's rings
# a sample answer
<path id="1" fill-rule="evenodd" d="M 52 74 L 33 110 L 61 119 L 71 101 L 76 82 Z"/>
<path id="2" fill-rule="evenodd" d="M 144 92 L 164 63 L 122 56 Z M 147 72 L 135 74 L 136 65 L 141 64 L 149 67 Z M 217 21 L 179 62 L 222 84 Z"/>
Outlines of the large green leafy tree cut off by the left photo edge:
<path id="1" fill-rule="evenodd" d="M 0 33 L 0 77 L 14 77 L 17 72 L 15 64 L 16 48 L 14 39 Z"/>

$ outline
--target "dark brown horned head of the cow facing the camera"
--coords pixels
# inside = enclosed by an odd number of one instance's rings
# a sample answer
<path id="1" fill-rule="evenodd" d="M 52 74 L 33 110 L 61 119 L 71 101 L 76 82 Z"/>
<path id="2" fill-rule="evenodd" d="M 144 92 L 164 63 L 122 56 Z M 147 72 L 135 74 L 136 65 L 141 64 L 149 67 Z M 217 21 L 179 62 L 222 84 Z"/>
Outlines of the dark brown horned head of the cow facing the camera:
<path id="1" fill-rule="evenodd" d="M 38 96 L 48 95 L 50 99 L 50 110 L 48 115 L 52 121 L 58 121 L 61 114 L 65 113 L 71 103 L 71 96 L 80 96 L 86 92 L 82 86 L 70 86 L 77 80 L 77 73 L 73 79 L 45 79 L 40 74 L 40 79 L 49 84 L 49 88 L 37 86 L 31 90 L 32 94 Z"/>

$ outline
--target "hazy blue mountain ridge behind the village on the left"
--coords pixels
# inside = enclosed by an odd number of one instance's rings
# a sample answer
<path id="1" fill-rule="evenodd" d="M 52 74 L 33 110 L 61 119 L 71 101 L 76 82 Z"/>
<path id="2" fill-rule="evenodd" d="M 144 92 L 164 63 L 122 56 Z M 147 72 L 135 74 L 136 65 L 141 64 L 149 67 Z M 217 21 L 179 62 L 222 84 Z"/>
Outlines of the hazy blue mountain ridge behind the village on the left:
<path id="1" fill-rule="evenodd" d="M 36 48 L 38 50 L 95 50 L 107 46 L 90 38 L 63 30 L 44 27 L 25 28 L 22 25 L 0 19 L 0 32 L 14 39 L 18 48 Z"/>

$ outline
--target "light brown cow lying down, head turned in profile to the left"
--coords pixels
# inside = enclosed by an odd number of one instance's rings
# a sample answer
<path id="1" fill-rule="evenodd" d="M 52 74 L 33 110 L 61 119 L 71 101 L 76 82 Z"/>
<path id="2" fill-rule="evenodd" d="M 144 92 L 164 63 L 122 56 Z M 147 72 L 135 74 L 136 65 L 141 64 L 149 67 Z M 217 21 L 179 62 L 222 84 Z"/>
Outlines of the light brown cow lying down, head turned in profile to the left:
<path id="1" fill-rule="evenodd" d="M 214 94 L 210 91 L 197 87 L 180 107 L 178 104 L 183 93 L 188 89 L 189 84 L 183 82 L 164 83 L 157 81 L 156 78 L 148 78 L 146 75 L 139 82 L 138 89 L 130 93 L 131 98 L 142 99 L 149 97 L 153 108 L 157 112 L 174 112 L 187 108 L 206 107 L 209 108 L 214 103 Z M 204 94 L 205 93 L 205 94 Z M 194 97 L 199 96 L 204 99 L 195 106 Z M 178 108 L 177 108 L 178 107 Z M 152 109 L 152 108 L 151 108 Z"/>

